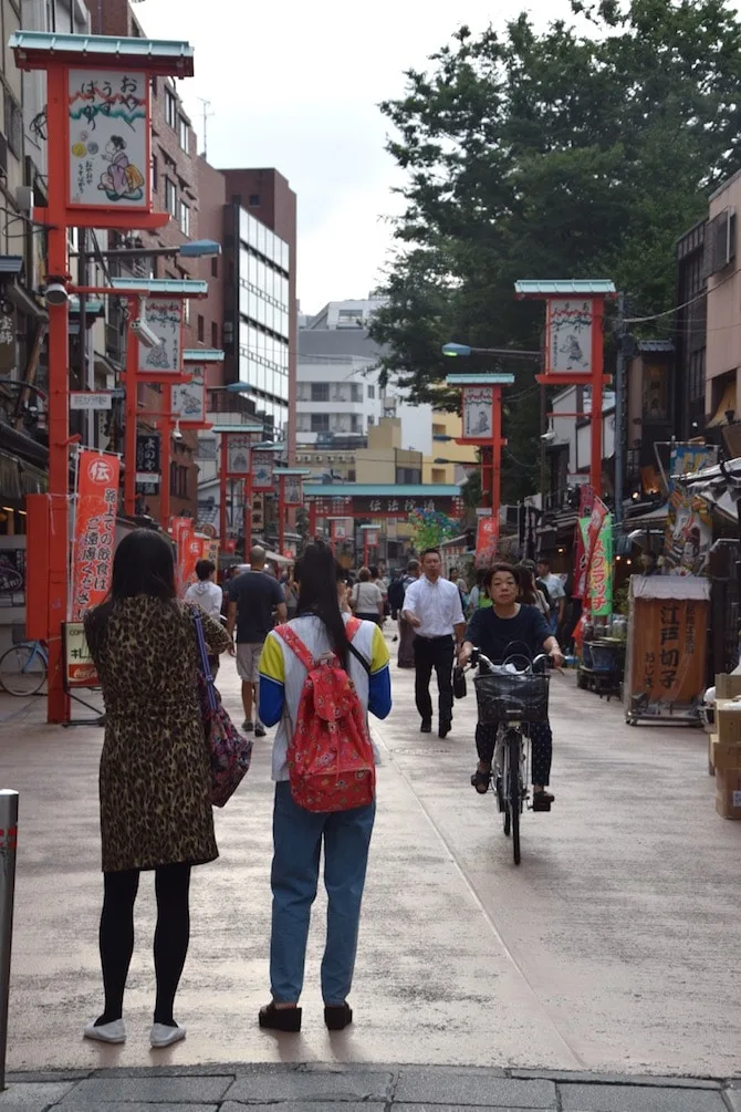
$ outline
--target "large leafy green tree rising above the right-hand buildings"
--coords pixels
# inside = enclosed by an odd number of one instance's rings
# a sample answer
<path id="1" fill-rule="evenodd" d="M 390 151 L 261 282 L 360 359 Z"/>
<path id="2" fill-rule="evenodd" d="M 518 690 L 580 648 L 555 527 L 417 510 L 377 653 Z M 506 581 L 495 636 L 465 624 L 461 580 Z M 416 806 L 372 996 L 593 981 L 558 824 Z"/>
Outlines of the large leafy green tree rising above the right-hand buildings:
<path id="1" fill-rule="evenodd" d="M 445 340 L 539 346 L 543 307 L 514 300 L 518 278 L 607 277 L 639 315 L 670 308 L 674 241 L 741 166 L 741 23 L 724 0 L 571 7 L 587 32 L 537 32 L 524 13 L 503 33 L 461 27 L 382 105 L 408 180 L 372 330 L 420 401 L 441 397 Z M 505 364 L 522 394 L 532 367 Z M 510 448 L 534 463 L 537 404 L 514 411 Z M 504 478 L 510 496 L 532 489 L 514 465 Z"/>

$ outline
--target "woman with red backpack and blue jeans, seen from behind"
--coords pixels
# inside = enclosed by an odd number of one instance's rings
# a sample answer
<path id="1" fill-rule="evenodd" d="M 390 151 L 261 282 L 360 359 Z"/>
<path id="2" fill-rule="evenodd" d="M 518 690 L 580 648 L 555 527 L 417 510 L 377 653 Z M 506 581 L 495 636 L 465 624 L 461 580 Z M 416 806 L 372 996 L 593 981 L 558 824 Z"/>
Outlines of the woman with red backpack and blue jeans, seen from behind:
<path id="1" fill-rule="evenodd" d="M 358 946 L 368 851 L 375 817 L 377 754 L 368 712 L 391 711 L 389 652 L 378 625 L 343 613 L 342 568 L 321 542 L 299 560 L 297 617 L 268 635 L 260 658 L 260 718 L 280 722 L 276 781 L 272 1000 L 260 1026 L 301 1030 L 299 997 L 311 905 L 324 848 L 329 898 L 321 969 L 324 1022 L 352 1022 L 348 995 Z"/>

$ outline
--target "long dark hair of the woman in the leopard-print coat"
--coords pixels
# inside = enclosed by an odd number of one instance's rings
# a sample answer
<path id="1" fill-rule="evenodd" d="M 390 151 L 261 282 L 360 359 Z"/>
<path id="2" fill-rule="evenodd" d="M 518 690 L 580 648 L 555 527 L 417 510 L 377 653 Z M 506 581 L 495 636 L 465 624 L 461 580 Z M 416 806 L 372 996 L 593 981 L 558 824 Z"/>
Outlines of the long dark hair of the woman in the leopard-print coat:
<path id="1" fill-rule="evenodd" d="M 116 549 L 109 596 L 84 618 L 88 644 L 93 651 L 116 603 L 136 595 L 149 595 L 163 602 L 171 602 L 177 596 L 172 545 L 154 529 L 133 529 Z"/>

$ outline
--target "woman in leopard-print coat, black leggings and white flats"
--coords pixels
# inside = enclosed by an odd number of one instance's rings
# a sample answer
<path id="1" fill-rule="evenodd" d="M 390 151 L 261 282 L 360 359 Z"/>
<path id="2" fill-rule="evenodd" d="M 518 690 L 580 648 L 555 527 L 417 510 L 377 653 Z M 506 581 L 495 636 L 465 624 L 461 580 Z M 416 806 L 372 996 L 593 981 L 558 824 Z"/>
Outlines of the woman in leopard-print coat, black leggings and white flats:
<path id="1" fill-rule="evenodd" d="M 231 646 L 208 614 L 209 652 Z M 106 1004 L 88 1039 L 126 1041 L 123 993 L 133 951 L 142 871 L 154 871 L 157 1003 L 150 1042 L 186 1036 L 173 1005 L 188 953 L 193 865 L 218 856 L 211 772 L 198 695 L 193 610 L 176 596 L 172 546 L 152 529 L 119 545 L 108 602 L 86 615 L 86 636 L 106 701 L 100 759 L 103 909 L 100 957 Z"/>

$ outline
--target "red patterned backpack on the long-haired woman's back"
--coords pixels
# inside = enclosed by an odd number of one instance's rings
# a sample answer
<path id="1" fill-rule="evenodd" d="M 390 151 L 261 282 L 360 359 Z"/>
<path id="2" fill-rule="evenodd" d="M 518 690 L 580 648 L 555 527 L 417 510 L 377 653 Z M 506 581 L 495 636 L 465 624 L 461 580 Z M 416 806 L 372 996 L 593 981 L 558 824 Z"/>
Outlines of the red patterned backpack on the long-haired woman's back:
<path id="1" fill-rule="evenodd" d="M 350 641 L 360 628 L 347 624 Z M 337 656 L 314 659 L 288 626 L 276 628 L 307 669 L 293 737 L 288 745 L 291 796 L 306 811 L 350 811 L 373 802 L 373 746 L 356 685 Z"/>

